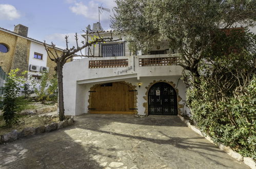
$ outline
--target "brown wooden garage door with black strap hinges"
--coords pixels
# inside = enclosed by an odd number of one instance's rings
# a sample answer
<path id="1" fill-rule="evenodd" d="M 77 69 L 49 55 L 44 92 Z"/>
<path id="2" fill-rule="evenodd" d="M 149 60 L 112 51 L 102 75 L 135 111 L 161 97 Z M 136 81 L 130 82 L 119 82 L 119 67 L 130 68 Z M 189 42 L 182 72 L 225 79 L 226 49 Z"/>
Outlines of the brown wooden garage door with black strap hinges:
<path id="1" fill-rule="evenodd" d="M 90 113 L 134 114 L 133 91 L 125 83 L 105 83 L 90 94 Z"/>

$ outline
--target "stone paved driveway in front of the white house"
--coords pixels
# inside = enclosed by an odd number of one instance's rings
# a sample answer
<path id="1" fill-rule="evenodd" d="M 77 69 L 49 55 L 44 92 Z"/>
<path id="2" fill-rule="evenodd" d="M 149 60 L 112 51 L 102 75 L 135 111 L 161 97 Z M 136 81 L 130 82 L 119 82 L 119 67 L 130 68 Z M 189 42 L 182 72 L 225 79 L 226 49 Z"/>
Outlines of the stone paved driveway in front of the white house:
<path id="1" fill-rule="evenodd" d="M 0 168 L 247 168 L 176 116 L 83 115 L 0 145 Z"/>

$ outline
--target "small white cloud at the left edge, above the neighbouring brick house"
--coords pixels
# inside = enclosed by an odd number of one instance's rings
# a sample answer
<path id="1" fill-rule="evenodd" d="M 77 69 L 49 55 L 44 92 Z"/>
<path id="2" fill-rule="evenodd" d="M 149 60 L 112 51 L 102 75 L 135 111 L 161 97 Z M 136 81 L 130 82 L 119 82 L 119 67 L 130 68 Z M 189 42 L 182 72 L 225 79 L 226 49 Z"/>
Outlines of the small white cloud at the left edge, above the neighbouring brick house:
<path id="1" fill-rule="evenodd" d="M 9 4 L 0 4 L 0 20 L 13 20 L 21 17 L 16 8 Z"/>

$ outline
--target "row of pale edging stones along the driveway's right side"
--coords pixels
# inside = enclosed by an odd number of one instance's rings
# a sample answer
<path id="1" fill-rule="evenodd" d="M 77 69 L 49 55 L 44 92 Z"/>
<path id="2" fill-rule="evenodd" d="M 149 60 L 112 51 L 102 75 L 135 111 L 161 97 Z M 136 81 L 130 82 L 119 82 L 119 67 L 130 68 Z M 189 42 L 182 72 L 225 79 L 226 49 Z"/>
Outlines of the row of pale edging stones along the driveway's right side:
<path id="1" fill-rule="evenodd" d="M 226 152 L 228 155 L 230 155 L 231 157 L 239 160 L 239 161 L 243 161 L 246 165 L 248 165 L 250 168 L 256 169 L 256 163 L 254 162 L 254 160 L 250 157 L 243 157 L 241 154 L 234 152 L 229 146 L 225 146 L 222 143 L 214 143 L 213 140 L 211 139 L 211 137 L 207 136 L 204 132 L 201 132 L 199 129 L 197 129 L 194 125 L 191 125 L 189 120 L 184 119 L 184 117 L 182 117 L 181 115 L 178 115 L 178 117 L 180 117 L 180 119 L 187 124 L 187 126 L 193 130 L 195 133 L 198 133 L 199 135 L 201 135 L 202 137 L 205 137 L 208 141 L 210 141 L 212 144 L 216 145 L 219 147 L 220 150 Z"/>

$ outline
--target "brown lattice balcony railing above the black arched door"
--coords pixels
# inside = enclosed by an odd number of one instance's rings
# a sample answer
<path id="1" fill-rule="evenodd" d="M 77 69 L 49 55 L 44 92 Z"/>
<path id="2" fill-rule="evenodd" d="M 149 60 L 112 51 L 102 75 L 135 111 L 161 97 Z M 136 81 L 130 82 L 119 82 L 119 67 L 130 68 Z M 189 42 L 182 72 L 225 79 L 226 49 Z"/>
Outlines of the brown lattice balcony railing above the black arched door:
<path id="1" fill-rule="evenodd" d="M 139 58 L 139 65 L 142 66 L 169 66 L 177 65 L 180 57 L 152 57 Z"/>

